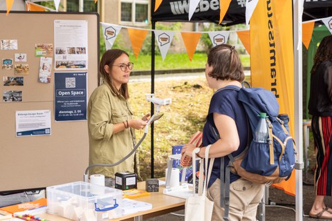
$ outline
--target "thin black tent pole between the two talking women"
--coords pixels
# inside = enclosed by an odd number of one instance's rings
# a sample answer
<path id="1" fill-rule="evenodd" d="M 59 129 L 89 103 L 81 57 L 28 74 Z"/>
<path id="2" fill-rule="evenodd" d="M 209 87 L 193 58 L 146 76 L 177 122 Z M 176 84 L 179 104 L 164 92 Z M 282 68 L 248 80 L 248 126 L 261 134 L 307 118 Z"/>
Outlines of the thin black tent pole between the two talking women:
<path id="1" fill-rule="evenodd" d="M 156 29 L 156 21 L 152 21 L 152 30 Z M 151 32 L 151 94 L 154 94 L 154 58 L 155 58 L 155 35 Z M 151 116 L 154 115 L 154 104 L 151 102 Z M 154 122 L 151 124 L 151 178 L 154 178 Z"/>

